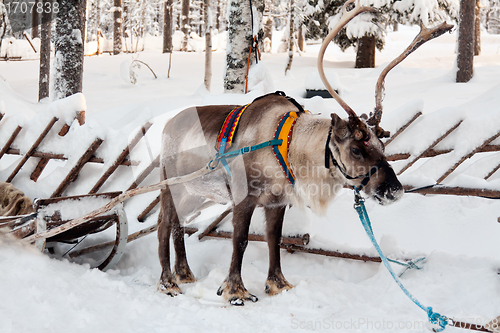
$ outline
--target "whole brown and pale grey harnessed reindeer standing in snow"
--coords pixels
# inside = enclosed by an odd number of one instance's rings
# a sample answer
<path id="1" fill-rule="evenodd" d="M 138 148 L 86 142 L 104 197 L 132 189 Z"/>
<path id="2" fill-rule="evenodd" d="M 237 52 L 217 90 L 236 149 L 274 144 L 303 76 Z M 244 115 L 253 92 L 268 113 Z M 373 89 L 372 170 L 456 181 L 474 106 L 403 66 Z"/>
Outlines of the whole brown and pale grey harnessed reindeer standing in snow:
<path id="1" fill-rule="evenodd" d="M 331 119 L 320 118 L 304 112 L 293 99 L 280 93 L 263 96 L 247 105 L 240 115 L 232 147 L 270 142 L 268 140 L 277 135 L 281 124 L 290 128 L 288 135 L 282 139 L 280 147 L 268 143 L 271 146 L 225 161 L 224 168 L 217 167 L 195 180 L 162 189 L 158 217 L 158 252 L 162 266 L 160 292 L 175 296 L 181 293 L 179 284 L 195 281 L 186 258 L 181 222 L 211 203 L 233 205 L 232 259 L 229 274 L 217 294 L 233 305 L 243 305 L 246 300 L 257 301 L 257 297 L 245 289 L 241 278 L 250 220 L 257 206 L 264 209 L 269 247 L 265 292 L 276 295 L 293 287 L 283 276 L 280 264 L 279 243 L 288 205 L 307 206 L 324 213 L 344 185 L 362 189 L 381 204 L 401 198 L 403 187 L 384 156 L 384 144 L 380 140 L 389 135 L 379 126 L 382 98 L 378 96 L 382 96 L 383 79 L 377 84 L 377 107 L 368 118 L 366 115 L 358 117 L 324 77 L 322 62 L 328 43 L 354 16 L 373 11 L 358 4 L 347 11 L 347 4 L 353 1 L 344 5 L 342 19 L 323 43 L 318 57 L 318 68 L 326 87 L 349 118 L 343 120 L 335 113 L 331 114 Z M 429 36 L 422 37 L 422 32 Z M 421 45 L 422 38 L 429 39 L 432 34 L 435 32 L 422 28 L 413 44 Z M 391 64 L 392 67 L 402 59 Z M 220 147 L 213 148 L 216 143 L 220 144 L 221 127 L 237 107 L 195 107 L 173 117 L 165 125 L 162 136 L 162 179 L 189 174 L 206 166 L 208 161 L 215 161 L 216 154 L 224 151 Z M 283 120 L 285 115 L 295 117 L 286 122 Z M 283 149 L 283 145 L 284 153 L 276 152 L 278 148 Z M 278 155 L 286 160 L 285 164 L 277 162 Z M 170 268 L 170 235 L 176 254 L 174 272 Z"/>

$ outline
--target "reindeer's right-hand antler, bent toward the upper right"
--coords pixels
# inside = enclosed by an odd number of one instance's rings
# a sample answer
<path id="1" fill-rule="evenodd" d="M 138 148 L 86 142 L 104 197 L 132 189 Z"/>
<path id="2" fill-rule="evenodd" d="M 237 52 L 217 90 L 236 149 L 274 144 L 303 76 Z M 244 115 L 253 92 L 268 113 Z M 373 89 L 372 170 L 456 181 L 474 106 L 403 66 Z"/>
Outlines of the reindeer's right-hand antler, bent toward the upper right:
<path id="1" fill-rule="evenodd" d="M 396 59 L 394 59 L 387 67 L 380 73 L 380 76 L 377 81 L 377 86 L 375 90 L 375 110 L 373 112 L 373 115 L 368 119 L 368 125 L 370 126 L 376 126 L 377 127 L 377 135 L 378 132 L 380 132 L 378 129 L 382 130 L 379 127 L 380 120 L 382 120 L 382 100 L 384 99 L 384 80 L 385 77 L 387 76 L 387 73 L 396 65 L 398 65 L 400 62 L 402 62 L 406 57 L 410 55 L 413 51 L 418 49 L 422 44 L 425 42 L 430 41 L 431 39 L 434 39 L 436 37 L 441 36 L 445 32 L 449 32 L 453 29 L 453 25 L 447 24 L 446 22 L 441 23 L 440 25 L 429 29 L 426 28 L 423 23 L 420 23 L 420 32 L 415 37 L 413 42 L 404 50 L 403 53 Z M 383 131 L 383 130 L 382 130 Z M 380 136 L 379 136 L 380 137 Z"/>

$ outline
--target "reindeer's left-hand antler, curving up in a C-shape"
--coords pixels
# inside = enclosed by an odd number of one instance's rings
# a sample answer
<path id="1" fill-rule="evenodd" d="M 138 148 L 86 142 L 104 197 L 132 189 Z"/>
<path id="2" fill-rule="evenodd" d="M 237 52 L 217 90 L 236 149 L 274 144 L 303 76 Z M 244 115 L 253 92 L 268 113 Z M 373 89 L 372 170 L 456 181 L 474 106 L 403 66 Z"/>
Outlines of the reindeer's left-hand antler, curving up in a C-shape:
<path id="1" fill-rule="evenodd" d="M 354 3 L 355 2 L 355 7 L 354 9 L 351 9 L 350 11 L 347 11 L 347 5 Z M 328 44 L 332 41 L 332 39 L 339 33 L 339 31 L 350 21 L 352 20 L 356 15 L 361 14 L 363 12 L 375 12 L 376 10 L 371 7 L 365 7 L 365 6 L 360 6 L 359 0 L 348 0 L 342 7 L 342 16 L 340 17 L 340 20 L 337 22 L 337 24 L 333 27 L 332 31 L 326 36 L 325 40 L 323 41 L 323 44 L 321 45 L 321 48 L 319 50 L 318 54 L 318 71 L 319 71 L 319 76 L 321 77 L 321 81 L 323 81 L 323 84 L 325 85 L 326 89 L 330 92 L 333 98 L 340 104 L 340 106 L 347 112 L 349 116 L 357 117 L 356 113 L 351 109 L 349 105 L 347 105 L 346 102 L 340 96 L 335 92 L 335 90 L 332 88 L 328 80 L 326 79 L 325 76 L 325 71 L 323 69 L 323 58 L 325 56 L 325 51 L 326 48 L 328 47 Z"/>

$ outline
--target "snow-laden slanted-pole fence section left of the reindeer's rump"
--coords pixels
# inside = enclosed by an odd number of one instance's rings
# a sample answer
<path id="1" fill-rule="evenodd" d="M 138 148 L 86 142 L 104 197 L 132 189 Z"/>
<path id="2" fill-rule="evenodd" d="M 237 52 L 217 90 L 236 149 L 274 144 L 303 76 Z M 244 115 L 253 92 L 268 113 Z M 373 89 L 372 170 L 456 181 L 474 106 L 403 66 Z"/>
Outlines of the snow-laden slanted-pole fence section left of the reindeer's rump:
<path id="1" fill-rule="evenodd" d="M 83 95 L 77 94 L 51 104 L 30 120 L 9 112 L 0 117 L 0 179 L 14 183 L 30 197 L 41 198 L 95 194 L 105 183 L 106 190 L 139 186 L 158 166 L 158 158 L 143 170 L 129 170 L 129 175 L 137 173 L 137 177 L 127 177 L 134 178 L 131 184 L 117 180 L 116 171 L 120 166 L 131 169 L 141 164 L 131 160 L 130 152 L 152 124 L 145 122 L 127 140 L 106 133 L 112 130 L 98 124 L 85 124 L 85 108 Z M 86 169 L 94 171 L 90 174 Z"/>

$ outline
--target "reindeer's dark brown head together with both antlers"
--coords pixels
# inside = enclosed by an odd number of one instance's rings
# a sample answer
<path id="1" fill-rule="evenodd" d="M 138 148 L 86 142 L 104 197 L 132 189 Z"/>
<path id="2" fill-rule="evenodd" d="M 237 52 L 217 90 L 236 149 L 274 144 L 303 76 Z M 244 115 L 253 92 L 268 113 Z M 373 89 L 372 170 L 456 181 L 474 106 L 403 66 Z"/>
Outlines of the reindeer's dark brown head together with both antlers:
<path id="1" fill-rule="evenodd" d="M 354 9 L 347 11 L 347 6 L 356 1 Z M 450 31 L 453 26 L 446 23 L 427 29 L 421 25 L 420 33 L 408 48 L 394 59 L 380 74 L 376 86 L 376 106 L 370 118 L 356 113 L 340 98 L 326 79 L 323 70 L 323 57 L 326 47 L 335 35 L 356 15 L 362 12 L 375 12 L 371 7 L 359 5 L 357 0 L 348 0 L 342 8 L 342 16 L 321 45 L 318 55 L 318 71 L 333 98 L 349 115 L 347 121 L 332 114 L 332 126 L 325 147 L 325 166 L 330 172 L 339 171 L 346 182 L 377 199 L 381 204 L 398 200 L 403 194 L 403 186 L 396 177 L 384 155 L 381 138 L 389 137 L 389 132 L 380 127 L 382 120 L 382 99 L 384 80 L 387 73 L 403 61 L 411 52 L 428 40 Z M 330 162 L 332 162 L 330 164 Z"/>

